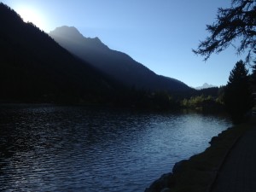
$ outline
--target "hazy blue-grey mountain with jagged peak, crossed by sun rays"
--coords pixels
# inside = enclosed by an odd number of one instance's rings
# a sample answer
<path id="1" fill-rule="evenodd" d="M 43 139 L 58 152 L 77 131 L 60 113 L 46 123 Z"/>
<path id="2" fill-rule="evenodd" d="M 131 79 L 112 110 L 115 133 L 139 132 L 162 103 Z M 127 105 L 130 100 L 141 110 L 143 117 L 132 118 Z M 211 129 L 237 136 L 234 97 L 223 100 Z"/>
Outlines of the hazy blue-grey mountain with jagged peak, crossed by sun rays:
<path id="1" fill-rule="evenodd" d="M 183 82 L 157 75 L 129 55 L 109 49 L 99 38 L 84 38 L 73 26 L 57 27 L 49 36 L 73 55 L 129 87 L 169 92 L 191 90 Z"/>

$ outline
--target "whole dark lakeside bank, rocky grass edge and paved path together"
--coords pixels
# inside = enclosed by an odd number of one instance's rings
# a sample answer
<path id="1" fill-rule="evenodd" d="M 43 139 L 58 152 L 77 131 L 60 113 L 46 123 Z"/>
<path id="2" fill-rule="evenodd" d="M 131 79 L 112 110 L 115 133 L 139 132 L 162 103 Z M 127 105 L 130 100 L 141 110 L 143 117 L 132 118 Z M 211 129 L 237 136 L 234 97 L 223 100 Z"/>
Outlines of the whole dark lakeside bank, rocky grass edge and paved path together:
<path id="1" fill-rule="evenodd" d="M 181 160 L 145 192 L 255 192 L 256 114 L 212 137 L 210 147 Z"/>

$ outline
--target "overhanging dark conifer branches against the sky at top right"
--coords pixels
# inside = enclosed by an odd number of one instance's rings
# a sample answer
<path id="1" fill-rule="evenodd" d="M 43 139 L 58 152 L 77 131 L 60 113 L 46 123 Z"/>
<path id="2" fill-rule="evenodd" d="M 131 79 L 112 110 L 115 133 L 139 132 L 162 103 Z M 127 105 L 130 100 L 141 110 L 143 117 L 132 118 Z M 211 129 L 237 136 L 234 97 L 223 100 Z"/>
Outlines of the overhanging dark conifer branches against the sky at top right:
<path id="1" fill-rule="evenodd" d="M 203 55 L 205 61 L 212 53 L 219 53 L 233 45 L 236 54 L 247 51 L 247 61 L 252 60 L 256 50 L 256 0 L 232 0 L 230 9 L 218 9 L 217 21 L 207 25 L 211 36 L 201 41 L 196 55 Z M 240 40 L 240 44 L 232 43 Z"/>

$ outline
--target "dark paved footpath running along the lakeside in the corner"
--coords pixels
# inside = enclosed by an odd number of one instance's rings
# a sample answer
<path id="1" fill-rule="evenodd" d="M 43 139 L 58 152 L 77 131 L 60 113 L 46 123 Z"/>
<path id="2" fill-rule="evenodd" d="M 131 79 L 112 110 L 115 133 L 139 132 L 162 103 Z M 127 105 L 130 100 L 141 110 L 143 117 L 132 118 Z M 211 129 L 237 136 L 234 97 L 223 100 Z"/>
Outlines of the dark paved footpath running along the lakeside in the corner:
<path id="1" fill-rule="evenodd" d="M 248 130 L 231 149 L 218 172 L 211 192 L 256 191 L 256 117 Z"/>

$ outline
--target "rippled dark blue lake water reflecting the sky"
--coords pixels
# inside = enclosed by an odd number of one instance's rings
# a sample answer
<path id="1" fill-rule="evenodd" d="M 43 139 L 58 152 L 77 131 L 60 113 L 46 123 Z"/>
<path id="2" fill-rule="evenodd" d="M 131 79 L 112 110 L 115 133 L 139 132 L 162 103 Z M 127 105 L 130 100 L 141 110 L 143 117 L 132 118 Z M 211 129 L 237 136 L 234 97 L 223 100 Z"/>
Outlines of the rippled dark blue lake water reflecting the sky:
<path id="1" fill-rule="evenodd" d="M 205 150 L 224 117 L 0 106 L 0 191 L 144 191 Z"/>

